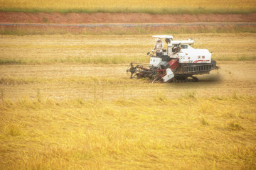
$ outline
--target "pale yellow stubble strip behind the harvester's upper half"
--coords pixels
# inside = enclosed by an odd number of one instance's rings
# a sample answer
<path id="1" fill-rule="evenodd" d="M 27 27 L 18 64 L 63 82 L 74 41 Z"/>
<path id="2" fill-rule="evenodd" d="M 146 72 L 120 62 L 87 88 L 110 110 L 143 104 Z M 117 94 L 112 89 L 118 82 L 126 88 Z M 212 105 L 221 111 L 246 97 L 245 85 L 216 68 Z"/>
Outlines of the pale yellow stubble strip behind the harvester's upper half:
<path id="1" fill-rule="evenodd" d="M 177 34 L 192 37 L 196 48 L 213 52 L 213 59 L 255 60 L 255 33 Z M 1 35 L 0 64 L 122 64 L 148 62 L 151 35 Z"/>

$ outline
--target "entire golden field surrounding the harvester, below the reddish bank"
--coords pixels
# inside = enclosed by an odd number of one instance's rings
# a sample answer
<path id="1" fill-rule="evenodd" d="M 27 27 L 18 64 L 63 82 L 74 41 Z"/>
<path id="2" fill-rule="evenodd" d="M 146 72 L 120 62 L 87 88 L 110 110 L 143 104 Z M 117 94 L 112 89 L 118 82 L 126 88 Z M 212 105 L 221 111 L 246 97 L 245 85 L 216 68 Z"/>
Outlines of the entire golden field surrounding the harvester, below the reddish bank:
<path id="1" fill-rule="evenodd" d="M 151 35 L 0 35 L 0 169 L 256 169 L 255 33 L 191 37 L 220 69 L 151 84 Z"/>

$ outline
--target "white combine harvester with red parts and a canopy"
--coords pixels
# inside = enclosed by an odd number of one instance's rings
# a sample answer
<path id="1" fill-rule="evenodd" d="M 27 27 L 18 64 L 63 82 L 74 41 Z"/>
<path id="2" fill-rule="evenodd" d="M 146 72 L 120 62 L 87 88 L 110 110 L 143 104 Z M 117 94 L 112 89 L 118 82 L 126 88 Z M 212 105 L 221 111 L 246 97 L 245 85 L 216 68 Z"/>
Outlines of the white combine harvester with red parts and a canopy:
<path id="1" fill-rule="evenodd" d="M 154 53 L 148 52 L 149 64 L 131 63 L 127 72 L 131 79 L 137 77 L 152 79 L 157 82 L 198 81 L 196 74 L 209 74 L 217 69 L 216 62 L 211 59 L 211 53 L 206 49 L 194 49 L 194 41 L 173 40 L 171 35 L 153 35 L 154 38 L 165 38 L 167 49 Z M 191 47 L 192 46 L 192 47 Z"/>

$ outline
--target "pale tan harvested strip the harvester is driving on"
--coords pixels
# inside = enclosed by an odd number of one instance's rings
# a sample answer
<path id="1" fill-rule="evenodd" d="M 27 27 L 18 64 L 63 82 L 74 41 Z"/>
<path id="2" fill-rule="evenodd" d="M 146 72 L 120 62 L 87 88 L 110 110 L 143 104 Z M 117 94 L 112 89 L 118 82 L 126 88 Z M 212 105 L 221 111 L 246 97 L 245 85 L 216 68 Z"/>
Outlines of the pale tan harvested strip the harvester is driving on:
<path id="1" fill-rule="evenodd" d="M 0 69 L 0 77 L 4 78 L 0 89 L 12 100 L 26 96 L 34 98 L 38 89 L 42 96 L 60 100 L 151 98 L 158 91 L 171 98 L 193 92 L 196 96 L 203 97 L 233 95 L 234 92 L 248 96 L 256 95 L 255 64 L 256 62 L 220 62 L 218 65 L 222 69 L 198 76 L 200 82 L 176 84 L 151 84 L 149 80 L 130 80 L 125 72 L 126 64 L 4 65 Z M 15 83 L 17 78 L 20 81 Z M 5 79 L 11 79 L 10 84 L 4 84 Z M 30 81 L 32 79 L 36 81 Z M 91 79 L 97 79 L 97 82 L 88 82 Z"/>

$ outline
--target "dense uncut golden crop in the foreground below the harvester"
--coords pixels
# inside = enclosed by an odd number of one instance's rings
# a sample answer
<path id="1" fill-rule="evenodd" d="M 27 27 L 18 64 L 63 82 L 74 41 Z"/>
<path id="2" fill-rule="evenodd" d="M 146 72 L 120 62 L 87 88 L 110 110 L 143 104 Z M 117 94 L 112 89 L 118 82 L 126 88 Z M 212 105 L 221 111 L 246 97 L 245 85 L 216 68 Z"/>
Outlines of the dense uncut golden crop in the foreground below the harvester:
<path id="1" fill-rule="evenodd" d="M 1 169 L 255 169 L 254 96 L 0 103 Z"/>

